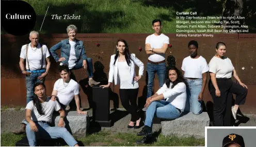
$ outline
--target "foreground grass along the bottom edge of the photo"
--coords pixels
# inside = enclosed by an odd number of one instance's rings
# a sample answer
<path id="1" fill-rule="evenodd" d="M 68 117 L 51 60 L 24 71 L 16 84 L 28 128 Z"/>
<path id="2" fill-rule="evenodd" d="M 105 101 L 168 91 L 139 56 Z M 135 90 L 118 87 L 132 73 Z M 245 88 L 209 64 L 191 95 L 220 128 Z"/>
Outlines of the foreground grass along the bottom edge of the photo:
<path id="1" fill-rule="evenodd" d="M 14 146 L 25 135 L 13 135 L 11 133 L 1 134 L 1 146 Z M 109 133 L 102 130 L 99 133 L 86 137 L 76 138 L 82 141 L 85 146 L 204 146 L 204 139 L 178 138 L 175 136 L 165 137 L 159 135 L 151 144 L 136 144 L 136 140 L 142 138 L 131 133 Z"/>

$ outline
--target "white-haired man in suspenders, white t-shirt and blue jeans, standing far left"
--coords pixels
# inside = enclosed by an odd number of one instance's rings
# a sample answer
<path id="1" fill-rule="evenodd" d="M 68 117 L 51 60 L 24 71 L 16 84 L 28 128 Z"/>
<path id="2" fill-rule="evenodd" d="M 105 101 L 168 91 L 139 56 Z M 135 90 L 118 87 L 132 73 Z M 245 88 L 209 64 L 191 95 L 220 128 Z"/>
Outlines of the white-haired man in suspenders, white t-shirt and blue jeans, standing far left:
<path id="1" fill-rule="evenodd" d="M 27 90 L 27 101 L 28 104 L 33 100 L 33 87 L 36 83 L 44 83 L 45 76 L 50 70 L 51 61 L 50 53 L 46 45 L 39 43 L 39 34 L 37 31 L 33 30 L 29 34 L 28 44 L 21 47 L 20 54 L 20 68 L 22 74 L 26 75 L 26 90 Z M 24 60 L 26 59 L 26 69 L 24 66 Z M 13 130 L 14 134 L 25 133 L 27 122 L 22 121 L 22 127 Z"/>

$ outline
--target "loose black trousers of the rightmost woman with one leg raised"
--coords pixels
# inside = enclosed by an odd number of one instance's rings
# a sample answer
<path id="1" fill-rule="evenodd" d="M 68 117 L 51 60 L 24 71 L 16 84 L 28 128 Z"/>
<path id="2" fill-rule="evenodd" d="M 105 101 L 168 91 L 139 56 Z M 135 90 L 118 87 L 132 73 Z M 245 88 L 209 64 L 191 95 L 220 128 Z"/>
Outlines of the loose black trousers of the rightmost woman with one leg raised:
<path id="1" fill-rule="evenodd" d="M 230 126 L 231 125 L 231 107 L 232 93 L 236 94 L 235 104 L 245 104 L 247 89 L 232 81 L 231 78 L 216 78 L 217 85 L 220 91 L 220 97 L 215 95 L 215 88 L 212 81 L 209 81 L 209 91 L 214 103 L 214 121 L 215 126 Z"/>

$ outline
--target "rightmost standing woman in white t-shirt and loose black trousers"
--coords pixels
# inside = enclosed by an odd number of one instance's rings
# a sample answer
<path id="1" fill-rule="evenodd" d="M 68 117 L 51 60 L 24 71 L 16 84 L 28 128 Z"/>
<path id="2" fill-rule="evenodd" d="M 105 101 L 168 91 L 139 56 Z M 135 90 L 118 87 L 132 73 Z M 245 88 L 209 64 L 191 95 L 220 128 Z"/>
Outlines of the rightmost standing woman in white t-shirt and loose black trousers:
<path id="1" fill-rule="evenodd" d="M 214 102 L 214 121 L 215 126 L 230 126 L 231 117 L 230 111 L 234 119 L 239 105 L 243 105 L 246 100 L 247 86 L 239 79 L 231 60 L 225 57 L 226 44 L 218 42 L 216 44 L 216 55 L 209 63 L 209 72 L 211 80 L 209 81 L 209 91 Z M 232 81 L 232 74 L 238 81 Z M 236 94 L 235 105 L 227 103 L 231 99 L 231 94 Z M 228 113 L 230 115 L 228 115 Z"/>

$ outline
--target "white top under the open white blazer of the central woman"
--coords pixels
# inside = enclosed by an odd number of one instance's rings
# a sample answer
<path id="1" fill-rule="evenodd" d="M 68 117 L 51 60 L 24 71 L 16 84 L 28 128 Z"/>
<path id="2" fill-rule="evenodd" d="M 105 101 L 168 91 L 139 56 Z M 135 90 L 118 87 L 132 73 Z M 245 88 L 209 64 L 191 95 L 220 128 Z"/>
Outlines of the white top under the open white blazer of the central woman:
<path id="1" fill-rule="evenodd" d="M 120 79 L 120 89 L 136 89 L 139 88 L 137 81 L 131 83 L 130 67 L 127 62 L 118 62 L 118 76 Z"/>

